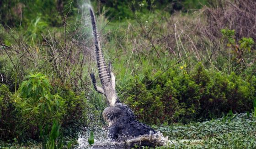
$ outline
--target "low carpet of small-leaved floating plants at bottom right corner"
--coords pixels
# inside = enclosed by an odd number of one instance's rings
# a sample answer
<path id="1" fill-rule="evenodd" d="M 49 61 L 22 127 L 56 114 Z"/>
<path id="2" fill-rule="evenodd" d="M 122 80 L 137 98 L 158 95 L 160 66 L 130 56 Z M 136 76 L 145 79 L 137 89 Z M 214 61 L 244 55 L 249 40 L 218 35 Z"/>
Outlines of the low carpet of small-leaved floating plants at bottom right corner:
<path id="1" fill-rule="evenodd" d="M 256 148 L 256 119 L 250 114 L 237 114 L 230 121 L 224 118 L 188 125 L 158 128 L 175 145 L 160 149 L 254 149 Z M 184 140 L 185 139 L 185 140 Z M 199 139 L 194 142 L 192 139 Z"/>

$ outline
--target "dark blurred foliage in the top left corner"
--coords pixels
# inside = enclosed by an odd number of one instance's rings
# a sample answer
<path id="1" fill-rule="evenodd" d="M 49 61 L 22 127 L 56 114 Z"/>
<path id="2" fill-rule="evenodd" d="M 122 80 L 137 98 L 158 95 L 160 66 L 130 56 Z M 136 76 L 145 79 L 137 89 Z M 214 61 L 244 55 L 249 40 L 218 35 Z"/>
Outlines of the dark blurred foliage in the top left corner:
<path id="1" fill-rule="evenodd" d="M 0 23 L 8 26 L 23 26 L 35 22 L 46 26 L 61 26 L 62 15 L 69 7 L 75 9 L 74 0 L 1 0 Z M 75 10 L 69 15 L 75 13 Z"/>

